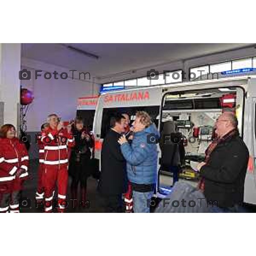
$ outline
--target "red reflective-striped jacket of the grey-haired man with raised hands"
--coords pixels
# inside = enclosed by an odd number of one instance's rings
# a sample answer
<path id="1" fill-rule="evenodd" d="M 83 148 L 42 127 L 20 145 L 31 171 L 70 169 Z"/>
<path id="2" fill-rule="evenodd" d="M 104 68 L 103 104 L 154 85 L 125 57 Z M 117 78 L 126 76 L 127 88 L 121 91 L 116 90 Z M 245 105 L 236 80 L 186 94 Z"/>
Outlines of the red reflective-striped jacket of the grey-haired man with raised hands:
<path id="1" fill-rule="evenodd" d="M 45 165 L 68 165 L 68 151 L 74 146 L 72 133 L 67 129 L 48 128 L 42 132 L 41 142 L 44 144 L 44 164 Z"/>

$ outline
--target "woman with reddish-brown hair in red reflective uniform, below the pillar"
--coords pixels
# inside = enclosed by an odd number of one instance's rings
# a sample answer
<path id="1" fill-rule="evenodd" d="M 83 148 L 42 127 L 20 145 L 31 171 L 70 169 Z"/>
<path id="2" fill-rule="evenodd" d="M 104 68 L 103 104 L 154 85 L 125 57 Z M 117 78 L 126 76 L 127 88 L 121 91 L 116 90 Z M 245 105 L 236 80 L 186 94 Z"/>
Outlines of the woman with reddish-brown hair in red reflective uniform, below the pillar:
<path id="1" fill-rule="evenodd" d="M 20 191 L 28 177 L 28 152 L 13 125 L 0 128 L 0 212 L 19 212 Z"/>

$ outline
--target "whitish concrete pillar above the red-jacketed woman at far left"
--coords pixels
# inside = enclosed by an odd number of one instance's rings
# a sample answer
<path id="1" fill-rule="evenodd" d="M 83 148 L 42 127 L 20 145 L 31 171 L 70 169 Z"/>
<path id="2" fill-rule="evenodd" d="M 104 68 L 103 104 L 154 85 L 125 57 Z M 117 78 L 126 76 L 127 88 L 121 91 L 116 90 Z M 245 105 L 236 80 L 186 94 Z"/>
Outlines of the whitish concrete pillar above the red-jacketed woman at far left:
<path id="1" fill-rule="evenodd" d="M 1 122 L 10 123 L 17 130 L 20 123 L 20 50 L 21 44 L 0 44 L 0 102 L 3 102 L 0 125 Z"/>

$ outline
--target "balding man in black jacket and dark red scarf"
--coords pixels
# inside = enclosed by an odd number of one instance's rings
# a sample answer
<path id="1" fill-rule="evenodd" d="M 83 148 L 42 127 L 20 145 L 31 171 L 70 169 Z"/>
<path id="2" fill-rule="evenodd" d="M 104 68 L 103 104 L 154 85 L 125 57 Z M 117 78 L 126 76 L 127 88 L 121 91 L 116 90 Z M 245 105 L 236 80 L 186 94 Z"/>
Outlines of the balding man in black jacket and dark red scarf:
<path id="1" fill-rule="evenodd" d="M 218 205 L 215 212 L 237 212 L 243 203 L 249 151 L 237 125 L 233 113 L 221 114 L 215 123 L 216 143 L 207 148 L 205 162 L 198 165 L 202 177 L 199 188 L 207 201 Z"/>

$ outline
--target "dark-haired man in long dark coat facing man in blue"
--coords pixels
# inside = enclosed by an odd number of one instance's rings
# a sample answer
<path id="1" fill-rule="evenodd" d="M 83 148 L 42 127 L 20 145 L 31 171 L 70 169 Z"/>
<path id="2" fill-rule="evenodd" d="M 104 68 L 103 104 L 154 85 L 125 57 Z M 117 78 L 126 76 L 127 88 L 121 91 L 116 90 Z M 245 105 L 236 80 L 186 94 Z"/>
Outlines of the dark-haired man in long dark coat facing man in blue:
<path id="1" fill-rule="evenodd" d="M 110 120 L 111 129 L 104 138 L 101 151 L 99 191 L 106 212 L 122 212 L 122 193 L 127 190 L 126 162 L 117 142 L 125 131 L 125 118 L 116 114 Z"/>

